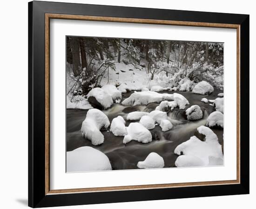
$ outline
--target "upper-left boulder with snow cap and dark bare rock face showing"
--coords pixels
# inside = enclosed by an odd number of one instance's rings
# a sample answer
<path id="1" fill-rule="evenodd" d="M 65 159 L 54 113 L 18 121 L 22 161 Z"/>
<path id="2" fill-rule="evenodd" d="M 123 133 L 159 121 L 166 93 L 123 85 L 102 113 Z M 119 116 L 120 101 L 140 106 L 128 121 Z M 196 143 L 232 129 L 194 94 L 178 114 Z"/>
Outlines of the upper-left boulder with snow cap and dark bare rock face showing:
<path id="1" fill-rule="evenodd" d="M 93 88 L 87 95 L 89 103 L 95 108 L 108 109 L 113 104 L 112 97 L 101 88 Z"/>

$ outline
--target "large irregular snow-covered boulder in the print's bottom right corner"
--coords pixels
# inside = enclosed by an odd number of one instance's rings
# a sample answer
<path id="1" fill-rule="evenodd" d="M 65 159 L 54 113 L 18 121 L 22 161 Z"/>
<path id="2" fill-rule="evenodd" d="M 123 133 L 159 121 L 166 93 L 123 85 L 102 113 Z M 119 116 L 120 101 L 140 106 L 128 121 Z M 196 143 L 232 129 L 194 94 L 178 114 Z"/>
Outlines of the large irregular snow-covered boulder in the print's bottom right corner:
<path id="1" fill-rule="evenodd" d="M 198 127 L 197 131 L 205 136 L 205 140 L 201 141 L 193 136 L 178 145 L 174 153 L 180 156 L 177 157 L 175 165 L 177 167 L 223 165 L 222 146 L 216 134 L 203 125 Z"/>

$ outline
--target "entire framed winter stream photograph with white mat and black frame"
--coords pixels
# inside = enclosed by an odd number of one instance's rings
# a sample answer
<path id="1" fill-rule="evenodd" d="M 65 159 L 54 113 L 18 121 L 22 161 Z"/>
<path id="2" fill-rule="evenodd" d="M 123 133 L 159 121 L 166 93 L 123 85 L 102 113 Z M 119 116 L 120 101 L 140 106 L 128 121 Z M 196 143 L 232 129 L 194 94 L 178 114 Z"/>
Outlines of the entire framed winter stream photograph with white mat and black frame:
<path id="1" fill-rule="evenodd" d="M 249 15 L 32 1 L 30 207 L 249 194 Z"/>

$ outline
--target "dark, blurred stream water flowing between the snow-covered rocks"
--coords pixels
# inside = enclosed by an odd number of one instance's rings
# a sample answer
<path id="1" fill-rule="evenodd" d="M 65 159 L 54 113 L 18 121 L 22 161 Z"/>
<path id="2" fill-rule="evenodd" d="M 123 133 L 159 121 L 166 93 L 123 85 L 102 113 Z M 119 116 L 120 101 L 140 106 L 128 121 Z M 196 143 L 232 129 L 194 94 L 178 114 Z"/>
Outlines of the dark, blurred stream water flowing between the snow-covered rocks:
<path id="1" fill-rule="evenodd" d="M 128 144 L 123 144 L 123 137 L 115 137 L 110 131 L 102 131 L 104 135 L 104 143 L 98 146 L 91 144 L 91 141 L 81 136 L 81 124 L 86 118 L 87 110 L 67 110 L 67 151 L 74 150 L 81 146 L 91 146 L 101 152 L 105 153 L 112 165 L 113 170 L 124 169 L 137 169 L 137 163 L 143 161 L 150 152 L 156 152 L 164 158 L 165 167 L 175 167 L 175 160 L 178 157 L 174 154 L 174 150 L 177 145 L 187 141 L 190 137 L 194 136 L 197 127 L 204 125 L 208 115 L 215 111 L 215 108 L 209 104 L 201 102 L 202 98 L 215 99 L 220 91 L 215 91 L 211 95 L 198 95 L 191 92 L 176 91 L 176 93 L 182 94 L 189 100 L 190 105 L 186 106 L 186 109 L 193 104 L 197 104 L 203 111 L 203 118 L 197 121 L 188 121 L 184 118 L 184 111 L 175 108 L 173 112 L 168 113 L 168 117 L 174 125 L 170 131 L 162 132 L 159 126 L 150 130 L 152 135 L 157 136 L 158 140 L 154 140 L 148 144 L 142 144 L 137 141 L 131 141 Z M 128 98 L 133 92 L 122 94 L 123 99 Z M 174 93 L 174 92 L 165 92 Z M 126 119 L 127 114 L 132 111 L 152 111 L 158 104 L 151 103 L 148 105 L 136 105 L 136 106 L 122 106 L 121 104 L 114 104 L 108 110 L 103 111 L 109 118 L 109 121 L 113 118 L 121 115 Z M 126 126 L 130 124 L 130 121 L 126 121 Z M 212 129 L 220 144 L 223 142 L 223 130 Z"/>

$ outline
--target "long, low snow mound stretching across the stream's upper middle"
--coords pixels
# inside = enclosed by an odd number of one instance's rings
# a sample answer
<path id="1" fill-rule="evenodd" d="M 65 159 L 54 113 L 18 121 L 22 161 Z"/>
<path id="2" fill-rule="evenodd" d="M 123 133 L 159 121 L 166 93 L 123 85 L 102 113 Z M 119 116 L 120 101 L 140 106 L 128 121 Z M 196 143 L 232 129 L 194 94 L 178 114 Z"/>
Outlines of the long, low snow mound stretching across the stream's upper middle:
<path id="1" fill-rule="evenodd" d="M 122 101 L 123 105 L 147 105 L 148 103 L 160 103 L 162 100 L 174 100 L 172 94 L 157 93 L 155 91 L 134 92 L 130 97 Z"/>

